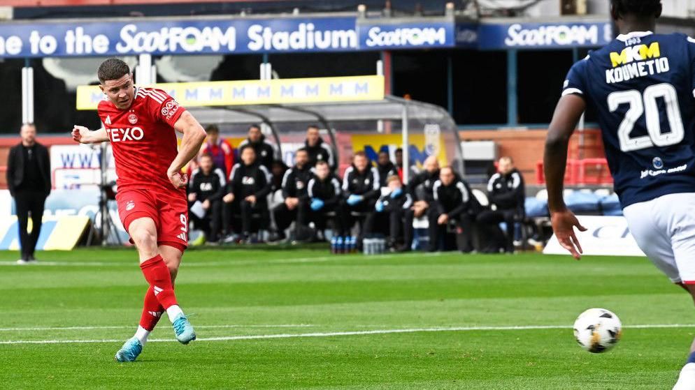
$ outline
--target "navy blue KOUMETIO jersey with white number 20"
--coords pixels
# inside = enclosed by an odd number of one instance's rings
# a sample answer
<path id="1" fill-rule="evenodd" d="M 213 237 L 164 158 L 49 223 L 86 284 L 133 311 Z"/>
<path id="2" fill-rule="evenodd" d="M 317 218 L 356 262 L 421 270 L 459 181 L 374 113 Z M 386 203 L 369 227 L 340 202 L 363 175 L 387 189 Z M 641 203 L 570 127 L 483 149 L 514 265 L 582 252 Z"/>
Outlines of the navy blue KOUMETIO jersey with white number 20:
<path id="1" fill-rule="evenodd" d="M 695 193 L 695 40 L 633 32 L 590 52 L 563 96 L 595 107 L 622 207 Z"/>

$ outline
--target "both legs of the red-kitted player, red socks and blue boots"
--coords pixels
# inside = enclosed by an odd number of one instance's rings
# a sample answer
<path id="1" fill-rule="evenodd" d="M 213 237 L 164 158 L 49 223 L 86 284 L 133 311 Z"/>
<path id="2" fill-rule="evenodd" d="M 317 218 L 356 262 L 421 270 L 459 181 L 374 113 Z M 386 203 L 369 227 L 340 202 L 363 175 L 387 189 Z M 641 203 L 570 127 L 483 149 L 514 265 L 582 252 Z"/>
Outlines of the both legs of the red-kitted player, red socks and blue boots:
<path id="1" fill-rule="evenodd" d="M 117 352 L 117 361 L 134 361 L 138 357 L 163 312 L 169 317 L 180 343 L 187 344 L 196 338 L 195 331 L 178 306 L 173 292 L 173 279 L 178 271 L 182 252 L 170 246 L 157 247 L 157 229 L 151 218 L 132 221 L 129 233 L 138 248 L 140 267 L 150 288 L 145 294 L 140 326 L 135 336 L 127 340 Z"/>

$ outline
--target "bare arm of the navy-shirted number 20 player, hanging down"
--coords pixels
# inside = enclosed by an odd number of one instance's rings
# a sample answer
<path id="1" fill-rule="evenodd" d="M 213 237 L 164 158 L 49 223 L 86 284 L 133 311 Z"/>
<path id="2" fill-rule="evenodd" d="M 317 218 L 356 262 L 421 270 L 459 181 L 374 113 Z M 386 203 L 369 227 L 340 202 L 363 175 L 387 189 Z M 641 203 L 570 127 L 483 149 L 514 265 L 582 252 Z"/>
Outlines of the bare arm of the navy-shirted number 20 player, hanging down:
<path id="1" fill-rule="evenodd" d="M 580 232 L 587 229 L 580 225 L 574 213 L 567 209 L 562 193 L 567 164 L 567 147 L 585 108 L 586 103 L 580 96 L 571 94 L 560 98 L 547 131 L 545 156 L 543 156 L 545 182 L 547 183 L 547 205 L 550 209 L 552 230 L 560 245 L 568 250 L 576 260 L 579 260 L 582 255 L 582 246 L 575 235 L 574 227 L 577 227 Z"/>

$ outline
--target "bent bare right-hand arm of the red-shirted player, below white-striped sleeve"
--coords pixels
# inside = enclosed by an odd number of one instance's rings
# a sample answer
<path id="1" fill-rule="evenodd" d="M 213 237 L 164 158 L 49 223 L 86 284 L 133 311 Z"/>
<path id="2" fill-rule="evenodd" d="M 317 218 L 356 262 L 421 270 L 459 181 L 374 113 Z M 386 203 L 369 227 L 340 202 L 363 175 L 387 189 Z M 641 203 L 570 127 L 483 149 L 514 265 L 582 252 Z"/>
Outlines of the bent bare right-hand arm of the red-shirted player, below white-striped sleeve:
<path id="1" fill-rule="evenodd" d="M 188 178 L 181 173 L 181 168 L 196 156 L 207 135 L 203 126 L 187 111 L 181 114 L 181 117 L 174 123 L 174 128 L 183 134 L 183 138 L 178 149 L 178 155 L 171 162 L 166 175 L 174 187 L 181 188 L 188 183 Z"/>

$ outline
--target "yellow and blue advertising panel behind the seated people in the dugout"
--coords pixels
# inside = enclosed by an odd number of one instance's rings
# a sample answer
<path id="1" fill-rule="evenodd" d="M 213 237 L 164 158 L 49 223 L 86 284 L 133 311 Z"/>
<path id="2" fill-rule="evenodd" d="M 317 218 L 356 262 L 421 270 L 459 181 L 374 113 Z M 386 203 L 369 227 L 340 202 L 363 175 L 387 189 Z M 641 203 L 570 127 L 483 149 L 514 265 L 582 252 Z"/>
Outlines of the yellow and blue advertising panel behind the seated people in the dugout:
<path id="1" fill-rule="evenodd" d="M 440 165 L 448 165 L 444 138 L 441 135 L 430 137 L 422 133 L 411 134 L 408 140 L 410 142 L 409 157 L 417 167 L 422 167 L 424 160 L 432 155 L 437 156 Z M 402 142 L 401 134 L 353 135 L 352 150 L 364 151 L 370 160 L 376 161 L 379 151 L 382 149 L 392 151 L 401 147 Z"/>

